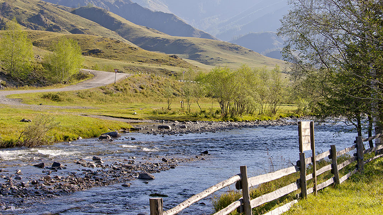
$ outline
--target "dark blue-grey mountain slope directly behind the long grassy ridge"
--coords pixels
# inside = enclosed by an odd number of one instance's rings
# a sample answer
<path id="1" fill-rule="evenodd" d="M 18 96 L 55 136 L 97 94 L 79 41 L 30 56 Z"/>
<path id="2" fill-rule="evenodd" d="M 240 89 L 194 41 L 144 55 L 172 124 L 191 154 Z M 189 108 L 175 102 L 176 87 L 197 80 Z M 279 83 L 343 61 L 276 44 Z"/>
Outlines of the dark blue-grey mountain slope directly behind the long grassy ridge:
<path id="1" fill-rule="evenodd" d="M 174 14 L 152 11 L 143 8 L 130 0 L 44 0 L 53 4 L 71 8 L 94 5 L 107 9 L 135 24 L 156 29 L 165 34 L 181 37 L 216 39 L 213 36 L 194 28 Z M 162 8 L 165 10 L 164 8 Z"/>

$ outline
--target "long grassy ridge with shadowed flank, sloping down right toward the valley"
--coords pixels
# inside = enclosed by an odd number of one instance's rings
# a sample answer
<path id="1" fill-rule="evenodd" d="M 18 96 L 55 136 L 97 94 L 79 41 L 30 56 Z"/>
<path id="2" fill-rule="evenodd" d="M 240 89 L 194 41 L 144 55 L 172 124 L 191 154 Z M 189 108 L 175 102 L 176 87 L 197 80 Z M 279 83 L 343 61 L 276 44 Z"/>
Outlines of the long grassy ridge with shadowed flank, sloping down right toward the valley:
<path id="1" fill-rule="evenodd" d="M 283 61 L 262 56 L 239 45 L 217 40 L 169 36 L 136 25 L 105 9 L 81 7 L 72 13 L 97 22 L 146 50 L 176 54 L 182 58 L 214 66 L 239 67 L 242 64 L 269 68 L 275 65 L 284 66 Z"/>

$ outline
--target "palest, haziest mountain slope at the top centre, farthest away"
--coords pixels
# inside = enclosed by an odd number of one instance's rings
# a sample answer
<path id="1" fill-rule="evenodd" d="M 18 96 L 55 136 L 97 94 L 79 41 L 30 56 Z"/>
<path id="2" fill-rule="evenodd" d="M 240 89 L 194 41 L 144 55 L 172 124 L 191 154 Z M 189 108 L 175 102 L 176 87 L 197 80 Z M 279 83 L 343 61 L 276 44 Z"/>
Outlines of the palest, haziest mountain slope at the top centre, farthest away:
<path id="1" fill-rule="evenodd" d="M 288 0 L 132 0 L 152 10 L 171 11 L 195 28 L 224 40 L 251 32 L 275 32 Z M 158 7 L 161 5 L 161 7 Z"/>

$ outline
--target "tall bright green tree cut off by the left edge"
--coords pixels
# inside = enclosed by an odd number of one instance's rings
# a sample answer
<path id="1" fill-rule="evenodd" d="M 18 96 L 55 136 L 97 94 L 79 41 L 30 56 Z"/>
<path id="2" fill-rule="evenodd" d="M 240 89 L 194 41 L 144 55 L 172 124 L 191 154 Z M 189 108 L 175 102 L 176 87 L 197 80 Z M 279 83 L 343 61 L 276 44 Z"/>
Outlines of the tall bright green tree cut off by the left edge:
<path id="1" fill-rule="evenodd" d="M 32 42 L 13 18 L 6 23 L 0 38 L 0 62 L 5 72 L 14 78 L 25 78 L 32 69 L 34 55 Z"/>

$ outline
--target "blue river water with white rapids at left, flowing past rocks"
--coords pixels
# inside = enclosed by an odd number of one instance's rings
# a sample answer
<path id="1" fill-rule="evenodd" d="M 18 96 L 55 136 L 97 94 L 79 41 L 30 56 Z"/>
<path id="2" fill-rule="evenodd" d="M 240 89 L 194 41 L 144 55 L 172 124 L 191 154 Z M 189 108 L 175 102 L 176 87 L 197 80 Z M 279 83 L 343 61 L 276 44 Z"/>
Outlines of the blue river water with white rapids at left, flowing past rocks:
<path id="1" fill-rule="evenodd" d="M 316 124 L 317 152 L 329 150 L 329 146 L 333 144 L 339 150 L 351 146 L 356 133 L 348 131 L 350 128 L 352 127 L 343 124 Z M 128 137 L 136 140 L 131 141 Z M 209 186 L 238 174 L 240 166 L 246 165 L 248 175 L 252 177 L 295 164 L 299 158 L 298 126 L 254 127 L 183 136 L 129 133 L 120 140 L 108 143 L 88 139 L 34 149 L 4 149 L 0 151 L 0 168 L 8 168 L 10 172 L 20 169 L 33 176 L 41 173 L 41 169 L 30 166 L 41 160 L 67 164 L 67 169 L 62 171 L 70 172 L 71 168 L 77 167 L 76 160 L 89 160 L 94 155 L 109 162 L 133 156 L 137 161 L 153 161 L 161 157 L 194 157 L 205 150 L 209 151 L 209 155 L 204 156 L 205 159 L 181 163 L 175 169 L 156 173 L 156 179 L 148 181 L 149 183 L 137 179 L 131 181 L 130 187 L 123 187 L 121 184 L 94 187 L 37 202 L 27 208 L 11 208 L 0 213 L 149 214 L 149 195 L 153 193 L 169 196 L 163 199 L 164 209 L 170 209 Z M 211 198 L 207 198 L 187 208 L 182 214 L 212 212 Z"/>

